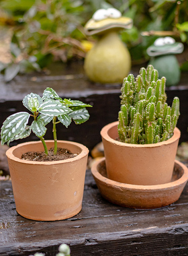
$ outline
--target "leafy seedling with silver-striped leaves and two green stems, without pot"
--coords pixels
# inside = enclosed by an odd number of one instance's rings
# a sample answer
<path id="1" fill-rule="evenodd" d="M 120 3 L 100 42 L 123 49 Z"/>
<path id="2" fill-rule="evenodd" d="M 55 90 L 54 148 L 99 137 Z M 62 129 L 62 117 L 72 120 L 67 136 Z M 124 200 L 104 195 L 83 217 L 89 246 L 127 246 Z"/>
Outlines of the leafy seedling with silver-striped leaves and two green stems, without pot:
<path id="1" fill-rule="evenodd" d="M 32 114 L 19 112 L 7 117 L 1 127 L 1 144 L 9 145 L 11 141 L 28 137 L 33 131 L 42 141 L 46 155 L 48 155 L 44 140 L 46 125 L 51 121 L 53 123 L 54 154 L 56 154 L 56 124 L 62 123 L 67 128 L 72 120 L 76 124 L 84 123 L 89 119 L 86 107 L 91 107 L 90 104 L 79 100 L 62 99 L 52 88 L 46 88 L 42 98 L 34 93 L 26 95 L 23 98 L 23 106 L 26 106 Z M 33 117 L 34 121 L 28 125 L 30 117 Z"/>

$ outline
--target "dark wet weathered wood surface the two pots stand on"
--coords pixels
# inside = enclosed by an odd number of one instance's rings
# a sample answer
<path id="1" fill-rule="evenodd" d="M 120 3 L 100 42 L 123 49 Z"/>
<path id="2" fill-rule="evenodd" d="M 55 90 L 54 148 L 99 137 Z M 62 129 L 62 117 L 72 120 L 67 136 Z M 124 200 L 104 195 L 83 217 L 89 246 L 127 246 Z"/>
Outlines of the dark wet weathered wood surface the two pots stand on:
<path id="1" fill-rule="evenodd" d="M 55 195 L 54 195 L 55 196 Z M 113 205 L 99 194 L 87 170 L 83 209 L 57 222 L 37 222 L 15 211 L 11 181 L 0 181 L 0 255 L 188 255 L 188 186 L 179 201 L 156 210 Z"/>

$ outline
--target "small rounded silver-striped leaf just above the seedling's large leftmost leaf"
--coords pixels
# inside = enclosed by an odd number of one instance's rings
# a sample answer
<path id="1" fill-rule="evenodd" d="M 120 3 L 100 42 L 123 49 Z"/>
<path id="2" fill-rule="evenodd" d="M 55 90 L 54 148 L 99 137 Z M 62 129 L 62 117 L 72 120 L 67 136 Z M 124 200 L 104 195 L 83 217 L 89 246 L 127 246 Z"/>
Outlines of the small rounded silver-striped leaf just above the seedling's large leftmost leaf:
<path id="1" fill-rule="evenodd" d="M 28 94 L 23 98 L 23 106 L 26 106 L 32 113 L 38 111 L 38 108 L 42 104 L 42 98 L 38 94 Z"/>

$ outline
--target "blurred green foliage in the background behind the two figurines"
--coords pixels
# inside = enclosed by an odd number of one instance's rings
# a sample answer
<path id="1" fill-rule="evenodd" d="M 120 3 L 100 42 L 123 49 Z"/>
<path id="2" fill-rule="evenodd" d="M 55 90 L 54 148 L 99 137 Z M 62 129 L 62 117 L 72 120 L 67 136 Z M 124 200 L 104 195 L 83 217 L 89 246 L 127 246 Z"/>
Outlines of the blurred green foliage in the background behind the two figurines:
<path id="1" fill-rule="evenodd" d="M 158 37 L 142 36 L 144 31 L 169 30 L 188 44 L 187 0 L 1 0 L 0 26 L 11 30 L 12 58 L 0 63 L 0 71 L 9 81 L 18 72 L 40 70 L 52 61 L 83 59 L 83 40 L 95 40 L 85 36 L 83 27 L 97 9 L 108 7 L 134 21 L 132 29 L 120 34 L 133 63 L 147 60 L 146 49 Z"/>

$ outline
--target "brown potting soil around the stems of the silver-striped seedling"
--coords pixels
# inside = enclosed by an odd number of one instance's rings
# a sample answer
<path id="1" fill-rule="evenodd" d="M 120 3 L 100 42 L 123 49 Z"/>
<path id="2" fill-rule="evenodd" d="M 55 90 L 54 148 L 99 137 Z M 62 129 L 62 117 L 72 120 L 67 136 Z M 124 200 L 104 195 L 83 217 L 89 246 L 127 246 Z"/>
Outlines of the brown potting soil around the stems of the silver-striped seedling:
<path id="1" fill-rule="evenodd" d="M 74 158 L 75 156 L 78 156 L 78 154 L 73 154 L 70 150 L 67 150 L 66 148 L 58 148 L 57 154 L 54 155 L 54 148 L 50 148 L 50 150 L 48 150 L 48 156 L 46 156 L 45 152 L 26 152 L 21 156 L 21 159 L 46 162 L 65 160 L 68 158 Z"/>

